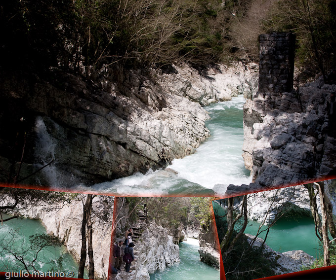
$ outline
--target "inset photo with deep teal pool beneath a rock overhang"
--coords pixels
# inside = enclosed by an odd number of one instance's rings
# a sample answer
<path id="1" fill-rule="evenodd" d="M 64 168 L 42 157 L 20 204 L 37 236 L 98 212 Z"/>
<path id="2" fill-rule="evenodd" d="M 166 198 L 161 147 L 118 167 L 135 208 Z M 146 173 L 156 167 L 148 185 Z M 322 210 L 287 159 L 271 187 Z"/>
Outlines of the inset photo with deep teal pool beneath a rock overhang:
<path id="1" fill-rule="evenodd" d="M 336 265 L 336 180 L 212 204 L 227 280 Z"/>

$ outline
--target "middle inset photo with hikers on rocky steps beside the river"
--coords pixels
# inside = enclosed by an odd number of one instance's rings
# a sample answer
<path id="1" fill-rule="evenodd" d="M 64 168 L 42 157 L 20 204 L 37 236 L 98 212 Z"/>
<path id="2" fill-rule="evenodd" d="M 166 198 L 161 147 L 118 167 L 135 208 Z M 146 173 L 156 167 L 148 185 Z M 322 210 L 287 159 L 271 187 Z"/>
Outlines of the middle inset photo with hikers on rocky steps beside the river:
<path id="1" fill-rule="evenodd" d="M 119 197 L 115 203 L 110 279 L 219 280 L 211 198 Z"/>

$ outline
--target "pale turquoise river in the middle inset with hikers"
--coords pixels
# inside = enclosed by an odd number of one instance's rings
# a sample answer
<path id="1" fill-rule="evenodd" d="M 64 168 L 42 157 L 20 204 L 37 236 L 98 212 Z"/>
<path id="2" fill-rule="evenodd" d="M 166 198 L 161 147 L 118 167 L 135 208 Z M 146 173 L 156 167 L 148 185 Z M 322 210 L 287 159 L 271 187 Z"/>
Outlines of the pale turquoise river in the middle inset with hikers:
<path id="1" fill-rule="evenodd" d="M 179 244 L 180 262 L 151 274 L 151 280 L 218 280 L 219 271 L 200 261 L 199 241 L 188 238 Z"/>

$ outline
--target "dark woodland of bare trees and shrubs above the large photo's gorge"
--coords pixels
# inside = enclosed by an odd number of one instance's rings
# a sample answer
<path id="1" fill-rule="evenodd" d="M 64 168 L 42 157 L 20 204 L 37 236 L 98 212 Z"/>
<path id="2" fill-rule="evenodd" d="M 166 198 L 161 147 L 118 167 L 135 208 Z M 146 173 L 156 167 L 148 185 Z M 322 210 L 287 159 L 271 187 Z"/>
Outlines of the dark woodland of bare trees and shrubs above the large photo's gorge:
<path id="1" fill-rule="evenodd" d="M 78 72 L 116 62 L 196 67 L 258 60 L 258 35 L 297 35 L 297 62 L 335 68 L 336 0 L 11 0 L 1 3 L 7 66 Z"/>

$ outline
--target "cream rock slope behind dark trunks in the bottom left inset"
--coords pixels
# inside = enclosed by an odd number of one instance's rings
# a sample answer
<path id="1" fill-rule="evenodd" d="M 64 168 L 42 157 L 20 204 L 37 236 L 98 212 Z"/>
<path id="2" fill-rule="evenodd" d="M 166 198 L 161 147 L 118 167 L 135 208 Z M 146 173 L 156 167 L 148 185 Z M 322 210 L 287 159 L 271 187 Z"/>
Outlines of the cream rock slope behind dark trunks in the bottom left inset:
<path id="1" fill-rule="evenodd" d="M 19 205 L 11 213 L 40 219 L 48 234 L 54 234 L 79 262 L 81 258 L 81 227 L 83 219 L 82 201 L 71 204 L 53 205 L 46 210 L 43 203 L 39 206 Z M 92 201 L 92 243 L 94 271 L 97 279 L 107 279 L 112 234 L 113 205 L 107 204 L 103 197 L 96 196 Z M 86 256 L 88 266 L 88 256 Z"/>

